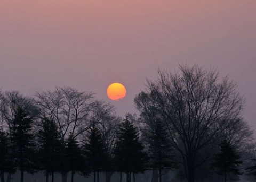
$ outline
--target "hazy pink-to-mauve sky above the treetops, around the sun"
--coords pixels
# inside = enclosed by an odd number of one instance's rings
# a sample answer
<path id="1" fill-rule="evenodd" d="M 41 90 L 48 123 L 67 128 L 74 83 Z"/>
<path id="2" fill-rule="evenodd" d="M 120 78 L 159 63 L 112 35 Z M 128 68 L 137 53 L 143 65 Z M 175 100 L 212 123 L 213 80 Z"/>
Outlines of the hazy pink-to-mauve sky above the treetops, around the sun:
<path id="1" fill-rule="evenodd" d="M 215 67 L 238 83 L 256 128 L 255 0 L 0 0 L 0 63 L 2 90 L 71 86 L 121 116 L 157 67 Z M 122 101 L 107 98 L 113 82 L 126 86 Z"/>

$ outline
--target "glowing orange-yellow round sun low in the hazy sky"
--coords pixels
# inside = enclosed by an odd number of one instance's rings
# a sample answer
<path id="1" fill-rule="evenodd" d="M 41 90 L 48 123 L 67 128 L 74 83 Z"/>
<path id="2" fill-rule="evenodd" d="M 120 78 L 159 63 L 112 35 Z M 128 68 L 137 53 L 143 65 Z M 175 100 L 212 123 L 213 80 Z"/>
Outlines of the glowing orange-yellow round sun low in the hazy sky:
<path id="1" fill-rule="evenodd" d="M 112 83 L 108 86 L 107 94 L 111 100 L 121 100 L 126 95 L 126 89 L 121 83 Z"/>

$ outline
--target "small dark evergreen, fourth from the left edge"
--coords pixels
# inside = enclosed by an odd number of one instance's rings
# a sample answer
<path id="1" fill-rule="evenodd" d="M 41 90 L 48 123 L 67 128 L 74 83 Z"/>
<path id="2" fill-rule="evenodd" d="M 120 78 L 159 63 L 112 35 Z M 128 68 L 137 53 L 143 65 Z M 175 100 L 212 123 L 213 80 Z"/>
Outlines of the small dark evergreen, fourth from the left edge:
<path id="1" fill-rule="evenodd" d="M 82 156 L 82 150 L 78 142 L 69 135 L 66 141 L 66 160 L 68 171 L 71 171 L 71 182 L 74 181 L 75 172 L 82 172 L 86 174 L 86 166 Z"/>

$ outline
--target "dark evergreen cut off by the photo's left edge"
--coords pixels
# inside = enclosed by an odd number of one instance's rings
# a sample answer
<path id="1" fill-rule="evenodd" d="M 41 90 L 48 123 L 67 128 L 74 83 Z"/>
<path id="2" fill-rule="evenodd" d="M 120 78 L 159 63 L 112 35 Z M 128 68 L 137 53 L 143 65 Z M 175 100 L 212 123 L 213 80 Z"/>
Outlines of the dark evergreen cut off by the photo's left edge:
<path id="1" fill-rule="evenodd" d="M 4 181 L 4 172 L 15 172 L 15 167 L 12 159 L 11 146 L 9 145 L 9 138 L 0 128 L 0 178 Z"/>

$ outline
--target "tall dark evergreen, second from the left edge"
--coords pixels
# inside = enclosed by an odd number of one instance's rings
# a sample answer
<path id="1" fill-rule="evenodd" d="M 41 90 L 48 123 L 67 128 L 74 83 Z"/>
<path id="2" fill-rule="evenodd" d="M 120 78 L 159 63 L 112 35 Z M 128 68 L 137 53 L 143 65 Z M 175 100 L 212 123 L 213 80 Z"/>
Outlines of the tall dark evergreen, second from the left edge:
<path id="1" fill-rule="evenodd" d="M 24 171 L 35 172 L 35 144 L 31 133 L 33 118 L 26 110 L 18 107 L 14 114 L 12 130 L 13 152 L 16 165 L 20 169 L 20 181 L 24 180 Z"/>

